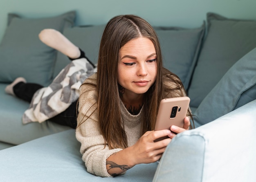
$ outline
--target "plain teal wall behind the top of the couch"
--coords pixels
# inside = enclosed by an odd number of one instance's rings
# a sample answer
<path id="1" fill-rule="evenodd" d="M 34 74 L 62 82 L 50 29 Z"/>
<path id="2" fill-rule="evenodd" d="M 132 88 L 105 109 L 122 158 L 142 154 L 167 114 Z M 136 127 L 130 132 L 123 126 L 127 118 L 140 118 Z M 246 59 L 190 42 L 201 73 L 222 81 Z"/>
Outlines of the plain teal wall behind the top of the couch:
<path id="1" fill-rule="evenodd" d="M 76 10 L 76 25 L 105 24 L 119 14 L 136 14 L 152 25 L 198 27 L 211 11 L 228 18 L 256 20 L 256 0 L 0 0 L 0 40 L 7 13 L 42 18 Z"/>

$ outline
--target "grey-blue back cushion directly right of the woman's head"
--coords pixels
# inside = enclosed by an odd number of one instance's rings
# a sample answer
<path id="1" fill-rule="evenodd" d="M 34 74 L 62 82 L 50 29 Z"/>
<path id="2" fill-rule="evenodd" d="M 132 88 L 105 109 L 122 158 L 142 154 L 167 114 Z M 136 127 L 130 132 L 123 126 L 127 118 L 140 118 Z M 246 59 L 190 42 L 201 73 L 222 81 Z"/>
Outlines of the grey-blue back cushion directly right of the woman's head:
<path id="1" fill-rule="evenodd" d="M 164 67 L 180 77 L 184 88 L 195 68 L 204 37 L 205 23 L 197 29 L 154 27 L 162 49 Z"/>

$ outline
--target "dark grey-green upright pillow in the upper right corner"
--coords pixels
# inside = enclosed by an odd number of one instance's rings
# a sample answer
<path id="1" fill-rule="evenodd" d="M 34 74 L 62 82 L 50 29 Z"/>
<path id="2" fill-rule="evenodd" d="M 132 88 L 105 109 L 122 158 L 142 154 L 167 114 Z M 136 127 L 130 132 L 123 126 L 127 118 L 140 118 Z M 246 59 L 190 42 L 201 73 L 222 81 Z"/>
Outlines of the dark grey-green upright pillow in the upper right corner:
<path id="1" fill-rule="evenodd" d="M 256 47 L 256 21 L 207 13 L 207 23 L 207 37 L 188 90 L 191 107 L 198 107 L 227 70 Z"/>

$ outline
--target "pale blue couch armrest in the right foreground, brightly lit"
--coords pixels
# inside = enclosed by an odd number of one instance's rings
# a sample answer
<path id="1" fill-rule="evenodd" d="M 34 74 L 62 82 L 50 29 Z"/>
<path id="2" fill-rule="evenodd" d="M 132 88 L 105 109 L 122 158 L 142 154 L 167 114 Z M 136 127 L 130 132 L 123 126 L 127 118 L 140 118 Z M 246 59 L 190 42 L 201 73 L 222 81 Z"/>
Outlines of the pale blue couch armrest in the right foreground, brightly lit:
<path id="1" fill-rule="evenodd" d="M 178 134 L 153 182 L 255 182 L 256 100 Z"/>

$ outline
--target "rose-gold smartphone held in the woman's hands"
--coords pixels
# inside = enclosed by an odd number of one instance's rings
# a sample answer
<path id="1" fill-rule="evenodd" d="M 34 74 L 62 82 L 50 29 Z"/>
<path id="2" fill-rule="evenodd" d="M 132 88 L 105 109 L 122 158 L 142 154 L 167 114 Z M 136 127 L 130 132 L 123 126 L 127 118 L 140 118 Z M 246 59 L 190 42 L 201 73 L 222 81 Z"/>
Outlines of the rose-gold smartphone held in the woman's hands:
<path id="1" fill-rule="evenodd" d="M 188 112 L 190 99 L 187 96 L 162 99 L 157 113 L 155 131 L 170 129 L 172 125 L 183 127 L 184 118 Z M 157 139 L 162 140 L 166 137 Z"/>

